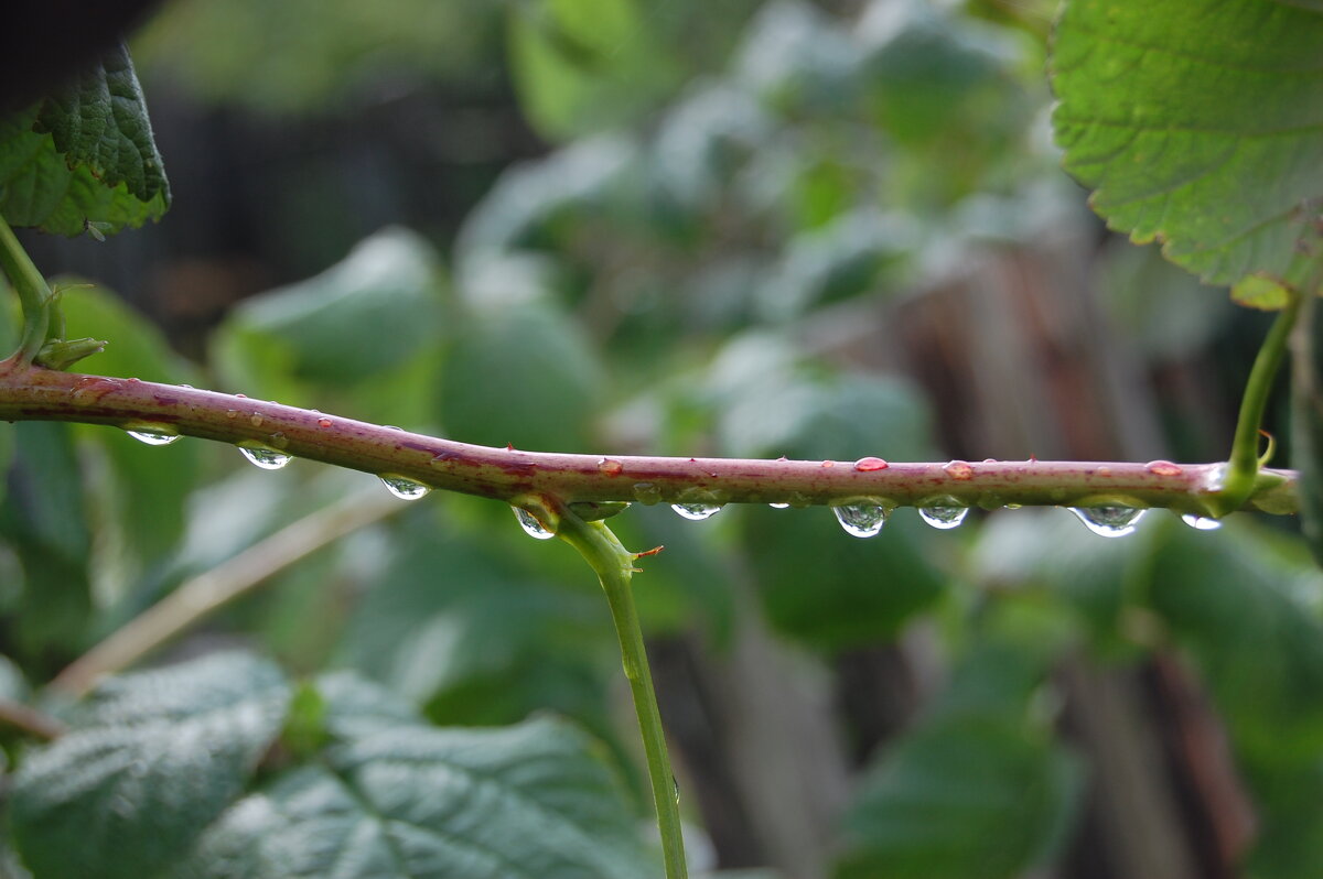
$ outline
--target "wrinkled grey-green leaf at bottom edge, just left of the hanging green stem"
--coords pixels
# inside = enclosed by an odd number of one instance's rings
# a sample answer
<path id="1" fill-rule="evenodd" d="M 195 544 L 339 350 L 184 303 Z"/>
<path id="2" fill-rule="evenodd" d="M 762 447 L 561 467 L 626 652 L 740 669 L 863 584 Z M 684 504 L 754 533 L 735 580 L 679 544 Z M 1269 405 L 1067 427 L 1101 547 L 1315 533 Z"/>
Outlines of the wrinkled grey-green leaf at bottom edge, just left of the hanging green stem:
<path id="1" fill-rule="evenodd" d="M 622 788 L 582 732 L 404 726 L 287 772 L 208 831 L 204 879 L 658 875 Z"/>

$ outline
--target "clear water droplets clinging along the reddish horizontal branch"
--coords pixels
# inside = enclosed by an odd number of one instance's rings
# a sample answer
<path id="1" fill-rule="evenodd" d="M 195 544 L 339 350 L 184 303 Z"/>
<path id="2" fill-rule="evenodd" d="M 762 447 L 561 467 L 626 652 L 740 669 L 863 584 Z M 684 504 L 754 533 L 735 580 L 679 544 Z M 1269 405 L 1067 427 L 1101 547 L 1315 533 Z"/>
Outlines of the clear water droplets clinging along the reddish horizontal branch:
<path id="1" fill-rule="evenodd" d="M 254 419 L 261 419 L 261 415 L 253 415 Z M 329 419 L 320 419 L 319 424 L 329 427 Z M 124 431 L 147 445 L 169 445 L 177 441 L 180 435 L 172 428 L 160 424 L 139 424 L 134 423 L 127 426 Z M 273 434 L 275 444 L 279 444 L 283 436 L 280 434 Z M 259 467 L 265 471 L 278 471 L 292 460 L 292 455 L 287 455 L 271 445 L 257 441 L 243 441 L 238 444 L 239 452 L 245 459 L 249 460 L 254 467 Z M 602 459 L 603 469 L 610 465 L 617 465 L 610 472 L 618 473 L 619 467 L 617 461 L 610 459 Z M 826 467 L 828 461 L 824 461 Z M 872 472 L 886 469 L 886 461 L 877 457 L 861 457 L 855 463 L 855 469 L 860 472 Z M 972 468 L 964 461 L 951 461 L 945 468 L 949 475 L 955 480 L 967 480 L 972 476 Z M 1148 469 L 1160 476 L 1175 476 L 1179 473 L 1179 465 L 1170 464 L 1167 461 L 1154 461 L 1148 464 Z M 415 501 L 426 496 L 431 489 L 422 482 L 415 480 L 396 476 L 396 475 L 382 475 L 381 482 L 386 489 L 396 497 L 405 501 Z M 662 490 L 659 486 L 651 482 L 638 482 L 634 486 L 635 498 L 643 504 L 656 504 L 662 500 Z M 699 493 L 704 494 L 704 493 Z M 790 506 L 807 506 L 807 498 L 798 498 L 802 502 L 795 504 L 792 501 L 781 501 L 770 504 L 769 506 L 774 509 L 787 509 Z M 722 508 L 722 504 L 717 502 L 716 498 L 710 497 L 696 497 L 692 501 L 672 504 L 671 509 L 676 514 L 693 521 L 701 522 L 716 516 Z M 519 519 L 520 526 L 531 537 L 540 541 L 550 539 L 554 535 L 548 530 L 536 516 L 528 510 L 515 506 L 511 508 L 515 512 L 515 518 Z M 876 537 L 881 533 L 882 526 L 886 525 L 886 517 L 890 514 L 890 509 L 884 504 L 876 504 L 869 501 L 860 501 L 855 504 L 841 504 L 832 506 L 832 513 L 836 516 L 836 521 L 840 522 L 841 529 L 859 538 Z M 1146 513 L 1142 508 L 1123 506 L 1123 505 L 1102 505 L 1102 506 L 1072 506 L 1068 508 L 1074 513 L 1084 525 L 1101 537 L 1126 537 L 1132 534 L 1135 527 L 1139 525 L 1139 519 Z M 959 527 L 964 518 L 968 516 L 970 509 L 960 505 L 954 497 L 946 496 L 941 498 L 934 498 L 926 504 L 918 506 L 919 518 L 927 525 L 941 530 L 949 530 Z M 1212 531 L 1221 527 L 1221 522 L 1215 518 L 1208 518 L 1203 516 L 1196 516 L 1193 513 L 1185 513 L 1181 521 L 1200 531 Z"/>

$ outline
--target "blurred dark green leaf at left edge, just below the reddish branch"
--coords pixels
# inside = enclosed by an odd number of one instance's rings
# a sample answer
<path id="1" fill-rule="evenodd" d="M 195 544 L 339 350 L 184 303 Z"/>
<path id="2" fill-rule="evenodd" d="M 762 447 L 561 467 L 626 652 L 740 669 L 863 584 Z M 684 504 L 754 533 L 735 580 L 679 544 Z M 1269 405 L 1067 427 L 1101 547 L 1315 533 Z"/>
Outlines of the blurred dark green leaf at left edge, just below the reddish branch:
<path id="1" fill-rule="evenodd" d="M 73 431 L 54 422 L 21 422 L 13 435 L 0 531 L 24 572 L 15 640 L 26 654 L 69 650 L 82 641 L 91 611 L 91 531 Z"/>

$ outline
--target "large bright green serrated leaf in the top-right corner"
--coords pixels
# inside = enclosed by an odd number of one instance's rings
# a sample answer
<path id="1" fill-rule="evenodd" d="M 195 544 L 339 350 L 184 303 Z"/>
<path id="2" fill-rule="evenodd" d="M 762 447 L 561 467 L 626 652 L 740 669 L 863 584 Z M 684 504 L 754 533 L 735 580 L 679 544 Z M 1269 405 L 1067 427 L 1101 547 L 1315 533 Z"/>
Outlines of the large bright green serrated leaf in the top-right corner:
<path id="1" fill-rule="evenodd" d="M 1065 167 L 1131 241 L 1205 282 L 1298 280 L 1323 197 L 1323 9 L 1070 0 L 1053 114 Z"/>

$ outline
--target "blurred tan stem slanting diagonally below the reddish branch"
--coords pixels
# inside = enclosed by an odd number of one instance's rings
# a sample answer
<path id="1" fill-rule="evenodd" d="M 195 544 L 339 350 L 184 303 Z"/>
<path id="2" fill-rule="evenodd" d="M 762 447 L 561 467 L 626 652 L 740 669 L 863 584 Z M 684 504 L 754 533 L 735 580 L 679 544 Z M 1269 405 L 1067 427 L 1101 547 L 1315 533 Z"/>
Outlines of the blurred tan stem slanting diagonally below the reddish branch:
<path id="1" fill-rule="evenodd" d="M 402 508 L 404 504 L 385 493 L 356 494 L 284 526 L 228 562 L 181 583 L 74 660 L 56 675 L 50 689 L 74 698 L 85 695 L 102 677 L 123 671 L 295 562 Z"/>

